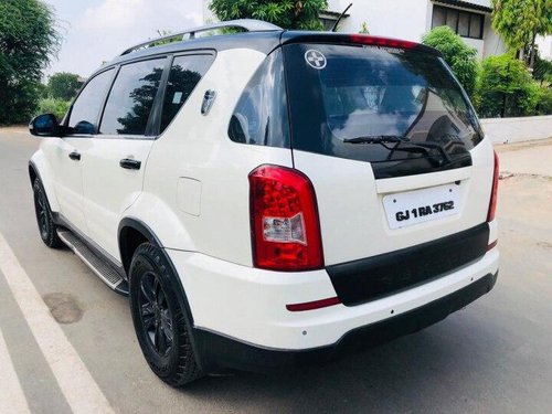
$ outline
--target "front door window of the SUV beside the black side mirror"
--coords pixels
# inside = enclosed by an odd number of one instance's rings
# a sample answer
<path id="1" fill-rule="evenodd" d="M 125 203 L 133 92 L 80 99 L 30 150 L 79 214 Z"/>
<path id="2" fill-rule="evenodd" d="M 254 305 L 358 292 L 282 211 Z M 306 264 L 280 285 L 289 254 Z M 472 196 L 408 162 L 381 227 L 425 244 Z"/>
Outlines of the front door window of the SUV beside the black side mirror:
<path id="1" fill-rule="evenodd" d="M 110 85 L 113 70 L 93 77 L 81 92 L 68 119 L 70 134 L 96 134 L 99 110 Z"/>

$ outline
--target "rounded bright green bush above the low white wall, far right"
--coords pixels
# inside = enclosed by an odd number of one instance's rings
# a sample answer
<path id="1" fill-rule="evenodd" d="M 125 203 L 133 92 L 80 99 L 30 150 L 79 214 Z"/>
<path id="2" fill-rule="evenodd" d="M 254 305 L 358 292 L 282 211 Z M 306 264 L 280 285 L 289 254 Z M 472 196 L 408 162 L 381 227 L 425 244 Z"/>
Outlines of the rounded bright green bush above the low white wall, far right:
<path id="1" fill-rule="evenodd" d="M 490 56 L 481 63 L 479 115 L 516 117 L 535 114 L 541 92 L 523 62 L 511 54 Z"/>

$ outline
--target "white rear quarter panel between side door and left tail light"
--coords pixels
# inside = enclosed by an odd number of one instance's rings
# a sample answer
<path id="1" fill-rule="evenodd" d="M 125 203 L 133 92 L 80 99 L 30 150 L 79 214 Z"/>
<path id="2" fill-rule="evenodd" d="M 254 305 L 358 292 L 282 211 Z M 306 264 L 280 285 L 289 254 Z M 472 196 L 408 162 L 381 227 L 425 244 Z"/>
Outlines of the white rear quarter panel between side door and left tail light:
<path id="1" fill-rule="evenodd" d="M 252 50 L 220 52 L 153 144 L 144 192 L 124 215 L 147 223 L 164 247 L 252 265 L 247 176 L 263 163 L 293 166 L 289 149 L 241 145 L 227 136 L 237 99 L 265 57 Z M 216 98 L 204 116 L 209 89 Z"/>

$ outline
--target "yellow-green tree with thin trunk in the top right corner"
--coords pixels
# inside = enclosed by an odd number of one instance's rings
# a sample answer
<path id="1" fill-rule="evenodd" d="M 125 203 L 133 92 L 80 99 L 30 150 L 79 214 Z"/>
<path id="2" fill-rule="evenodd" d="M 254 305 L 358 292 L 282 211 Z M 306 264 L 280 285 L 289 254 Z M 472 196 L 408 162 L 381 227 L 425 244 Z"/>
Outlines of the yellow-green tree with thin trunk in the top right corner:
<path id="1" fill-rule="evenodd" d="M 534 64 L 534 40 L 552 33 L 552 0 L 491 0 L 492 28 L 510 50 L 529 46 L 529 67 Z"/>

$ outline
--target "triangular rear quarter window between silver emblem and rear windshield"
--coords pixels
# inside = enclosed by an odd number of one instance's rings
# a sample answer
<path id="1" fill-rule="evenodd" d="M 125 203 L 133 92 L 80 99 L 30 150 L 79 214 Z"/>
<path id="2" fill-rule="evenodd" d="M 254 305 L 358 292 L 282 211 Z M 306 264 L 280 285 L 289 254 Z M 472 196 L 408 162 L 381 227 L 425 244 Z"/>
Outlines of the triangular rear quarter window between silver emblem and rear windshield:
<path id="1" fill-rule="evenodd" d="M 247 84 L 232 115 L 235 142 L 289 148 L 289 118 L 282 51 L 273 52 Z"/>

